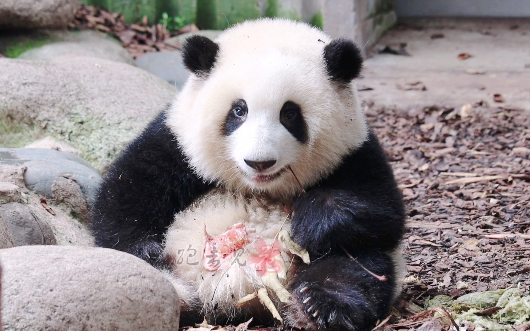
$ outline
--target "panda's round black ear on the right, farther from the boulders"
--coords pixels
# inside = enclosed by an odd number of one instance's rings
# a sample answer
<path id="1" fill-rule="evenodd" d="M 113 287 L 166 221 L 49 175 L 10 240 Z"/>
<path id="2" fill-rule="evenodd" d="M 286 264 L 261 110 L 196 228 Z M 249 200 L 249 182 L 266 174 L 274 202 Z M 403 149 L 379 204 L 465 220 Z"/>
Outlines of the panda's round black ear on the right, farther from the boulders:
<path id="1" fill-rule="evenodd" d="M 361 50 L 346 38 L 333 39 L 324 47 L 324 60 L 331 80 L 349 83 L 359 76 L 363 67 Z"/>

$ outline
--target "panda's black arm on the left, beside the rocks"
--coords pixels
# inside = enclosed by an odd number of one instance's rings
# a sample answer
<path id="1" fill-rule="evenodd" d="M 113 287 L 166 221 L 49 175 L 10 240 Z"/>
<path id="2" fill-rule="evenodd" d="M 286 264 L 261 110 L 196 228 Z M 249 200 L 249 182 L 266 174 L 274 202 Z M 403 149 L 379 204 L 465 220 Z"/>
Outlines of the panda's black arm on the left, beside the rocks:
<path id="1" fill-rule="evenodd" d="M 149 123 L 111 165 L 91 210 L 95 244 L 119 249 L 156 265 L 174 214 L 209 185 L 192 173 L 165 112 Z"/>

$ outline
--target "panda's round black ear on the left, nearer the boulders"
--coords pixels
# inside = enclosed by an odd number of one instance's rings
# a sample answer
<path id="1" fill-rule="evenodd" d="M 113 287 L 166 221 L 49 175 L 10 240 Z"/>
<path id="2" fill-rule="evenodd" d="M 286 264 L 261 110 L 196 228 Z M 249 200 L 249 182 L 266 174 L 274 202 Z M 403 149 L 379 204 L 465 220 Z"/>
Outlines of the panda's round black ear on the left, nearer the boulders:
<path id="1" fill-rule="evenodd" d="M 193 74 L 208 74 L 215 65 L 219 45 L 202 35 L 192 35 L 186 39 L 182 50 L 184 66 Z"/>

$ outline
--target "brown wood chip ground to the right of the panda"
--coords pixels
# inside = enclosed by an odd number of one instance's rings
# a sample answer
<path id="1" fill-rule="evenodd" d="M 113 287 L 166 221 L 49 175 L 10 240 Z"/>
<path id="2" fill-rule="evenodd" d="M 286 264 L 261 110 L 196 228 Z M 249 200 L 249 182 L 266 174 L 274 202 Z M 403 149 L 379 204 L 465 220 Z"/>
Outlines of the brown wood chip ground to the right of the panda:
<path id="1" fill-rule="evenodd" d="M 395 315 L 436 294 L 530 288 L 530 112 L 368 107 L 408 207 Z M 385 328 L 398 318 L 393 316 Z M 407 327 L 406 329 L 409 329 Z"/>

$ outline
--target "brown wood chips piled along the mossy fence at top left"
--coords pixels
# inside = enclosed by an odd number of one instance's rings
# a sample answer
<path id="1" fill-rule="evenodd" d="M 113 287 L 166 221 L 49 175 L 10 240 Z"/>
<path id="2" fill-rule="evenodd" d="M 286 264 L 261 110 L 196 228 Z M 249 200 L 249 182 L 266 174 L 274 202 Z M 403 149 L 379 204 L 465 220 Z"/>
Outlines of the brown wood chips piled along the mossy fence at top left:
<path id="1" fill-rule="evenodd" d="M 174 35 L 199 31 L 195 24 L 184 26 L 176 32 L 170 32 L 162 24 L 149 24 L 147 16 L 137 24 L 127 24 L 123 14 L 112 13 L 93 6 L 82 5 L 69 23 L 70 29 L 98 30 L 109 33 L 121 41 L 134 58 L 147 52 L 172 51 L 182 49 L 182 45 L 168 41 Z"/>

